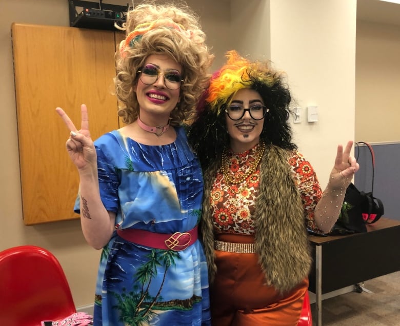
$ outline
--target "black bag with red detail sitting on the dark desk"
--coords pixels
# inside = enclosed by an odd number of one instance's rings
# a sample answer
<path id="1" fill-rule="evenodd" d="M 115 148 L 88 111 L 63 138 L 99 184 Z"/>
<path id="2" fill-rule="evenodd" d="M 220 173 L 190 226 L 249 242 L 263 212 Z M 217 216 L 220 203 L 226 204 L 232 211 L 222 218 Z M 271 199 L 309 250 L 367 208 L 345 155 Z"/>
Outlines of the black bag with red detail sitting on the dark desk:
<path id="1" fill-rule="evenodd" d="M 336 234 L 348 234 L 354 232 L 367 232 L 366 223 L 375 223 L 384 214 L 384 206 L 380 199 L 373 196 L 375 156 L 371 145 L 359 141 L 355 145 L 365 144 L 372 159 L 372 189 L 371 192 L 359 191 L 353 184 L 346 189 L 342 210 L 332 229 Z M 357 157 L 358 159 L 358 157 Z M 350 232 L 346 232 L 349 230 Z"/>

